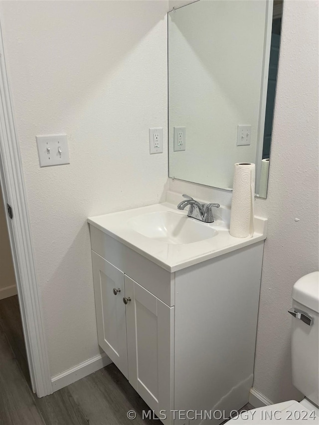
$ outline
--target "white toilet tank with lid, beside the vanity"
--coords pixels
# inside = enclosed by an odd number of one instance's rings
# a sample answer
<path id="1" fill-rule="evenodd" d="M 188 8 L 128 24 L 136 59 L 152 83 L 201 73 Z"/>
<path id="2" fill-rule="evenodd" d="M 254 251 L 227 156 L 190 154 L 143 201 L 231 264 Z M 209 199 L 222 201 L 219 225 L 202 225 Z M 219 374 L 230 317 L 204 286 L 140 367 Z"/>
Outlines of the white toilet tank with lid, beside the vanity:
<path id="1" fill-rule="evenodd" d="M 299 279 L 293 287 L 293 384 L 319 405 L 319 272 Z"/>

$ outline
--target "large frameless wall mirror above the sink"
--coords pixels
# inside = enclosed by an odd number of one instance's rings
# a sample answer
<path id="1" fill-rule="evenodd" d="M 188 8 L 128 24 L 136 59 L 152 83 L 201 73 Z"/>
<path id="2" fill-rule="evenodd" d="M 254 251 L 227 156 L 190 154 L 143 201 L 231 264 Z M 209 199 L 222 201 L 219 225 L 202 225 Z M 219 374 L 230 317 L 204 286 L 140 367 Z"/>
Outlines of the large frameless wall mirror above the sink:
<path id="1" fill-rule="evenodd" d="M 168 13 L 169 176 L 267 195 L 282 0 L 200 0 Z"/>

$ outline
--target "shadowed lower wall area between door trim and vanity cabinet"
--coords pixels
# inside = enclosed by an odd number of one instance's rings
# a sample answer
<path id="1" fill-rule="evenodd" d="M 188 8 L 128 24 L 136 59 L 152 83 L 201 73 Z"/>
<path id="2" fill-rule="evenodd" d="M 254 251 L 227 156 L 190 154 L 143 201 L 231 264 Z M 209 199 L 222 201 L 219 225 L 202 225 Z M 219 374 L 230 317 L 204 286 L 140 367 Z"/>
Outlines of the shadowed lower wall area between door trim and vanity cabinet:
<path id="1" fill-rule="evenodd" d="M 72 244 L 65 246 L 63 252 L 59 250 L 59 258 L 55 258 L 56 263 L 48 265 L 51 268 L 51 274 L 46 282 L 39 280 L 42 282 L 46 329 L 51 335 L 48 340 L 48 353 L 50 365 L 54 365 L 51 366 L 52 376 L 83 361 L 81 353 L 78 354 L 71 348 L 76 341 L 83 341 L 85 346 L 89 347 L 91 352 L 87 353 L 88 358 L 101 352 L 97 343 L 88 226 L 87 222 L 83 223 Z M 58 243 L 52 242 L 51 250 L 54 252 L 57 250 Z M 71 281 L 78 282 L 76 290 L 74 285 L 70 284 Z M 52 299 L 55 300 L 54 303 Z M 77 318 L 76 326 L 72 321 L 73 317 Z"/>

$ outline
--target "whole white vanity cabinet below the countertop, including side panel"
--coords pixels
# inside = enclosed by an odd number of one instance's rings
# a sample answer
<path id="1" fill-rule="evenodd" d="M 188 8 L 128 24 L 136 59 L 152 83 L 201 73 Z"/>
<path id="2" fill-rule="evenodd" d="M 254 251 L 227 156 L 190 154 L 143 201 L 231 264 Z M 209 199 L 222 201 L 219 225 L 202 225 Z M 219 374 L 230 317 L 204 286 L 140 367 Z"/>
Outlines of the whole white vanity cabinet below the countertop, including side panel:
<path id="1" fill-rule="evenodd" d="M 170 273 L 92 224 L 90 232 L 99 344 L 150 410 L 165 425 L 189 425 L 243 407 L 264 241 Z M 215 417 L 206 423 L 224 420 Z"/>

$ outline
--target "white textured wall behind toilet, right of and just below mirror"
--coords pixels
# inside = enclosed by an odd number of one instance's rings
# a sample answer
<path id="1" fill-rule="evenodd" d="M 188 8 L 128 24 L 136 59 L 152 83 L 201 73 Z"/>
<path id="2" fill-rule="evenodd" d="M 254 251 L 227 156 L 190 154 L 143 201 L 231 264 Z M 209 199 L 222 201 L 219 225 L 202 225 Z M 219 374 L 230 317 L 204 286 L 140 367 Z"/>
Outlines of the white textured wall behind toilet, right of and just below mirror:
<path id="1" fill-rule="evenodd" d="M 275 403 L 302 398 L 292 385 L 287 310 L 293 284 L 318 270 L 318 18 L 317 1 L 284 1 L 268 195 L 256 200 L 269 221 L 253 385 Z M 170 188 L 231 201 L 207 186 L 174 180 Z"/>

